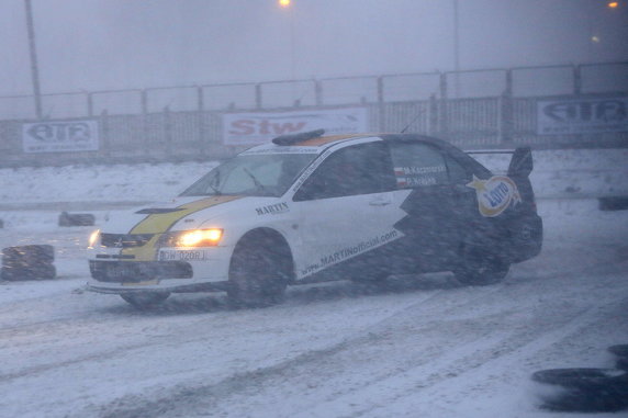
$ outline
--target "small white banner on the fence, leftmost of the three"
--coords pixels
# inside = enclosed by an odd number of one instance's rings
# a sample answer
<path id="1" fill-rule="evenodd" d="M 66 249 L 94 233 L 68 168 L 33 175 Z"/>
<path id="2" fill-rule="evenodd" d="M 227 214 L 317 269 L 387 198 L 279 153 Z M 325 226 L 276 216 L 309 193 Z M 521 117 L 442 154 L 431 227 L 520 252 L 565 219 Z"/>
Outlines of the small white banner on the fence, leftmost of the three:
<path id="1" fill-rule="evenodd" d="M 36 122 L 22 124 L 24 152 L 97 151 L 98 121 Z"/>

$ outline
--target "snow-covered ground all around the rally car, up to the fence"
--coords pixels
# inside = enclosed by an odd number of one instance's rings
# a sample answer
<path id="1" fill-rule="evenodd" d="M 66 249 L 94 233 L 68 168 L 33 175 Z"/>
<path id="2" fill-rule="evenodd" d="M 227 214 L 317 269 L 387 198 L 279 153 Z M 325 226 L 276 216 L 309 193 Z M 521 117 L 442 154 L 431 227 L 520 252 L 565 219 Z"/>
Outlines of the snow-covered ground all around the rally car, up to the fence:
<path id="1" fill-rule="evenodd" d="M 221 293 L 138 312 L 83 292 L 92 228 L 56 226 L 64 208 L 100 222 L 168 199 L 211 163 L 0 170 L 0 248 L 53 244 L 59 274 L 0 283 L 0 416 L 556 416 L 537 408 L 530 373 L 612 366 L 606 348 L 628 343 L 628 211 L 592 199 L 628 192 L 626 157 L 535 152 L 543 250 L 498 285 L 340 281 L 240 310 Z"/>

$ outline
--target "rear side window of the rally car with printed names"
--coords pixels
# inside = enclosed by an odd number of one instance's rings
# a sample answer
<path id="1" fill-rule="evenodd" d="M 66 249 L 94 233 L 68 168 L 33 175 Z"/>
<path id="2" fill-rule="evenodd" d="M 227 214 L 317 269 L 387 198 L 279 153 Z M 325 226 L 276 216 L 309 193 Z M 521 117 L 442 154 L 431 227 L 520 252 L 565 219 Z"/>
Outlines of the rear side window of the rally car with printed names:
<path id="1" fill-rule="evenodd" d="M 440 151 L 427 144 L 401 143 L 391 146 L 397 189 L 415 189 L 449 183 Z"/>

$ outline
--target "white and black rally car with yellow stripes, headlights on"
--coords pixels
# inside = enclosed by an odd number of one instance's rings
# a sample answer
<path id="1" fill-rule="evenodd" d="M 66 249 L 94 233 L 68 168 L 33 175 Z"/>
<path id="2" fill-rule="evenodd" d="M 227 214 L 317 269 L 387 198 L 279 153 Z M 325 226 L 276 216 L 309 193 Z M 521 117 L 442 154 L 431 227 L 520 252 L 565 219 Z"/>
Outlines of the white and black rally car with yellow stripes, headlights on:
<path id="1" fill-rule="evenodd" d="M 523 148 L 494 176 L 419 135 L 280 136 L 170 203 L 110 219 L 90 238 L 88 287 L 136 306 L 198 291 L 266 305 L 318 280 L 453 271 L 495 283 L 541 248 L 531 169 Z"/>

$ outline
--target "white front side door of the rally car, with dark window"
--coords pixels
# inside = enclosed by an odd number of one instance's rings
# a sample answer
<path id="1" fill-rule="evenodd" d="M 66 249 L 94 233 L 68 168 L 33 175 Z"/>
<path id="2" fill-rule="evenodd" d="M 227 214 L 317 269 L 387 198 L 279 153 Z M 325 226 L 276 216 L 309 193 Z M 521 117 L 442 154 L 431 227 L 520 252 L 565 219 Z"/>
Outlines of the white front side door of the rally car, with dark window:
<path id="1" fill-rule="evenodd" d="M 396 203 L 383 142 L 348 146 L 328 156 L 293 197 L 300 216 L 298 276 L 355 259 L 399 238 L 393 225 L 404 213 Z"/>

